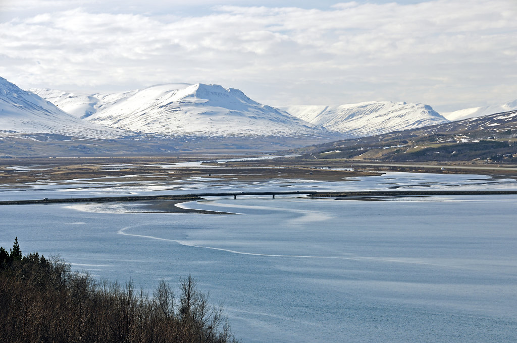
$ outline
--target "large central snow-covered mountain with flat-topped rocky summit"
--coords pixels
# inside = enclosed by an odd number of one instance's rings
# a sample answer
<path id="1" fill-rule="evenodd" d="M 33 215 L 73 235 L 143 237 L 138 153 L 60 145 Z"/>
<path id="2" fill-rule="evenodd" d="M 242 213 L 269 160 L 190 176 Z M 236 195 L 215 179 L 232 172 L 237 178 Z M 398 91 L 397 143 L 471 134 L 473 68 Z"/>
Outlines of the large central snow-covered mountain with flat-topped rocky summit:
<path id="1" fill-rule="evenodd" d="M 343 137 L 259 104 L 238 89 L 205 84 L 145 88 L 100 107 L 86 120 L 110 128 L 164 136 Z"/>

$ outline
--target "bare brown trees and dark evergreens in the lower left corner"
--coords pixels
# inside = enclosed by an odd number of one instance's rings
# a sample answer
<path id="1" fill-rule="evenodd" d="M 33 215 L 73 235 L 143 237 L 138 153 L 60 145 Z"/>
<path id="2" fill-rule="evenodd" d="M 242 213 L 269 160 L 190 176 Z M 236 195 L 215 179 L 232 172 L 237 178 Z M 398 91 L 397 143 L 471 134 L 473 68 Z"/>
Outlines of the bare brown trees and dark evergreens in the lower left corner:
<path id="1" fill-rule="evenodd" d="M 179 296 L 160 280 L 149 296 L 132 282 L 99 281 L 58 257 L 0 247 L 0 341 L 10 343 L 237 342 L 192 276 Z"/>

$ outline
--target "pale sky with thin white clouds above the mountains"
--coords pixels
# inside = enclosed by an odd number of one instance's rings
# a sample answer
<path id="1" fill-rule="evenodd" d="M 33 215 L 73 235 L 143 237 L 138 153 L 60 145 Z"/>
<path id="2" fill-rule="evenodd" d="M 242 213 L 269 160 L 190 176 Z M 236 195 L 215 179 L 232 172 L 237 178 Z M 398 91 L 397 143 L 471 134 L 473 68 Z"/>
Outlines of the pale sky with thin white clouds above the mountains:
<path id="1" fill-rule="evenodd" d="M 85 93 L 185 82 L 271 106 L 517 99 L 517 0 L 0 0 L 0 76 Z"/>

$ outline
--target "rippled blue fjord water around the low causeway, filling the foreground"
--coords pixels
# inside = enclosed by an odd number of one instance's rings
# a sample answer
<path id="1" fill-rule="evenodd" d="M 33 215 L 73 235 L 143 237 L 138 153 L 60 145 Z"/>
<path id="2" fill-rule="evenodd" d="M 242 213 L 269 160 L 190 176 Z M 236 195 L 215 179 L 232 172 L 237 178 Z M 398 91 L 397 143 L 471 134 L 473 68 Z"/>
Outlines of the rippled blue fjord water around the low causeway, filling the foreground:
<path id="1" fill-rule="evenodd" d="M 343 187 L 515 187 L 443 177 L 393 174 Z M 132 279 L 150 292 L 160 278 L 174 285 L 192 274 L 212 301 L 224 302 L 246 342 L 516 341 L 515 197 L 397 200 L 182 204 L 238 213 L 221 215 L 135 213 L 124 204 L 4 206 L 0 245 L 18 236 L 24 253 L 59 253 L 74 268 Z"/>

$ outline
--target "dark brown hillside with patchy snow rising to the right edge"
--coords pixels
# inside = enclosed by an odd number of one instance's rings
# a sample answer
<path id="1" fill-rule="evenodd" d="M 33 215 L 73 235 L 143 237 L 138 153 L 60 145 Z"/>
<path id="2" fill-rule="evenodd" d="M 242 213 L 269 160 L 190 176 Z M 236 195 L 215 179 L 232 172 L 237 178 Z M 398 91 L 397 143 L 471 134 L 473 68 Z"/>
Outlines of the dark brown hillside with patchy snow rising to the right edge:
<path id="1" fill-rule="evenodd" d="M 517 110 L 308 146 L 293 152 L 307 153 L 311 158 L 317 159 L 397 162 L 489 159 L 494 162 L 515 163 Z"/>

